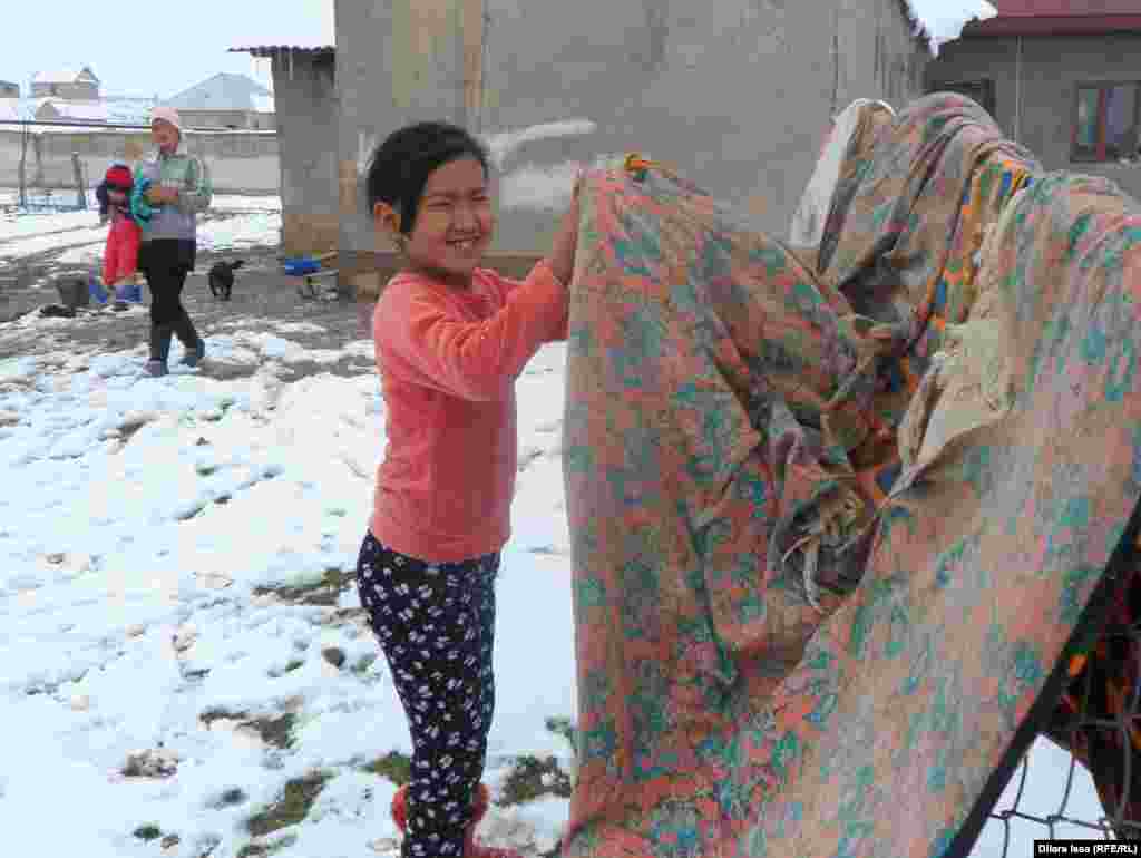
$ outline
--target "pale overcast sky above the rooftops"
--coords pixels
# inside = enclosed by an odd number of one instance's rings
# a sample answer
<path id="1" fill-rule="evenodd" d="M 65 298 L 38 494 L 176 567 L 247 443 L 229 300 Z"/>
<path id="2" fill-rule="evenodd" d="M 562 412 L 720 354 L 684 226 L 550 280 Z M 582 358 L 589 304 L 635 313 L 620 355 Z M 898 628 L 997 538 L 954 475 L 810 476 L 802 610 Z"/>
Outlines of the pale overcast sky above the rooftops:
<path id="1" fill-rule="evenodd" d="M 356 0 L 370 2 L 370 0 Z M 801 0 L 828 2 L 830 0 Z M 912 0 L 936 37 L 984 0 Z M 27 94 L 37 72 L 84 65 L 106 95 L 170 98 L 218 72 L 251 74 L 249 44 L 334 43 L 333 0 L 29 0 L 5 2 L 0 80 Z M 957 32 L 957 31 L 956 31 Z"/>

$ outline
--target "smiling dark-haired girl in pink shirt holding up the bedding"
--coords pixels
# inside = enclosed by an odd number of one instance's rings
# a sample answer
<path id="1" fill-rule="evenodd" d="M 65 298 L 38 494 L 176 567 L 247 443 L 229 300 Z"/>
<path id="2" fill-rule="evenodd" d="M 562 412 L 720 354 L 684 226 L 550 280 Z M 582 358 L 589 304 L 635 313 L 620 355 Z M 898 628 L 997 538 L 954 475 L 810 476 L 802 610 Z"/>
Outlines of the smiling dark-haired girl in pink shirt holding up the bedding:
<path id="1" fill-rule="evenodd" d="M 495 703 L 495 577 L 518 458 L 515 380 L 566 339 L 577 201 L 550 256 L 515 282 L 479 266 L 494 234 L 487 154 L 467 131 L 394 132 L 367 175 L 404 270 L 373 315 L 388 446 L 357 588 L 412 732 L 393 803 L 404 858 L 510 858 L 474 839 Z M 523 677 L 518 678 L 523 681 Z"/>

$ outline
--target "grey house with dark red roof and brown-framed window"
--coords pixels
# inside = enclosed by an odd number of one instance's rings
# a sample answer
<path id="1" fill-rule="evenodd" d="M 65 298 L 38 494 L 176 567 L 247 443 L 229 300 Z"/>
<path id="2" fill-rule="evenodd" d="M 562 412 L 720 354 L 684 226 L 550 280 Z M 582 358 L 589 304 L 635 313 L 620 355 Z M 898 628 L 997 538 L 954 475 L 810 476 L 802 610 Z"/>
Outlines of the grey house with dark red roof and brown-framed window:
<path id="1" fill-rule="evenodd" d="M 998 0 L 926 68 L 970 95 L 1046 169 L 1106 176 L 1141 197 L 1141 2 Z"/>

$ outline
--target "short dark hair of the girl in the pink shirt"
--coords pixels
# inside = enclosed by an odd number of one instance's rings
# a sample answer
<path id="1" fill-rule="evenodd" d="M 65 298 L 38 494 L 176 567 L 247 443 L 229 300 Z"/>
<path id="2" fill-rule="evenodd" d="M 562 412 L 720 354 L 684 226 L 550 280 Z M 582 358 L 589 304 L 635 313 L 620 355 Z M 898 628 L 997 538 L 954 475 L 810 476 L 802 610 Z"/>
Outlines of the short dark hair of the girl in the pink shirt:
<path id="1" fill-rule="evenodd" d="M 437 167 L 461 157 L 474 157 L 487 176 L 487 152 L 459 126 L 416 122 L 390 133 L 369 161 L 365 187 L 370 213 L 377 203 L 388 203 L 400 214 L 400 232 L 407 235 L 416 220 L 416 208 L 428 176 Z"/>

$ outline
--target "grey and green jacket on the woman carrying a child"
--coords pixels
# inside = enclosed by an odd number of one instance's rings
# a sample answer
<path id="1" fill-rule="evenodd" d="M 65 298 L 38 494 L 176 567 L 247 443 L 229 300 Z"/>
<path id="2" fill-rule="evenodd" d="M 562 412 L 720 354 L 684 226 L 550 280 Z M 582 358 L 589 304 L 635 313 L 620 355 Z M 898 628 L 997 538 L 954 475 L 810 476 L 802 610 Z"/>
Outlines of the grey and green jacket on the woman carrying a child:
<path id="1" fill-rule="evenodd" d="M 149 205 L 144 194 L 152 185 L 177 187 L 178 202 Z M 197 214 L 210 208 L 212 197 L 213 187 L 205 162 L 187 153 L 181 140 L 173 153 L 155 153 L 135 168 L 131 213 L 143 227 L 144 242 L 159 238 L 195 241 Z"/>

